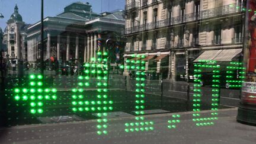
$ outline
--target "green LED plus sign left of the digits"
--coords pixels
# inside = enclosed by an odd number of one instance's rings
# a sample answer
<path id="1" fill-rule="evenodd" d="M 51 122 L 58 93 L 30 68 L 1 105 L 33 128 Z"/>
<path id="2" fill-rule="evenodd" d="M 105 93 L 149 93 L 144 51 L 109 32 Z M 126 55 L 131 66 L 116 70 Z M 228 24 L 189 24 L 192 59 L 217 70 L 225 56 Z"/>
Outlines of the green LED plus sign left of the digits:
<path id="1" fill-rule="evenodd" d="M 14 100 L 25 101 L 30 106 L 31 114 L 42 114 L 44 103 L 57 99 L 57 89 L 43 88 L 42 75 L 31 74 L 28 78 L 28 88 L 14 88 Z"/>

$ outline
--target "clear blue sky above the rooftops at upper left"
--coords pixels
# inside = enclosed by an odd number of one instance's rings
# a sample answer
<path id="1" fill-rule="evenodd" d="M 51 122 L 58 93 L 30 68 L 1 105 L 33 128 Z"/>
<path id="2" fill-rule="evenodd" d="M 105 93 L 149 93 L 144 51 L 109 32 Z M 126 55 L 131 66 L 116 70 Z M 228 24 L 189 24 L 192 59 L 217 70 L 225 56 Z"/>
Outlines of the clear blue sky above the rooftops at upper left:
<path id="1" fill-rule="evenodd" d="M 124 9 L 125 5 L 125 0 L 44 0 L 44 17 L 60 14 L 65 6 L 77 1 L 89 2 L 92 5 L 92 11 L 97 13 Z M 102 9 L 101 1 L 103 2 Z M 33 24 L 40 20 L 41 0 L 0 0 L 0 13 L 5 17 L 0 19 L 2 29 L 5 28 L 7 20 L 14 12 L 15 4 L 18 5 L 19 13 L 25 23 Z"/>

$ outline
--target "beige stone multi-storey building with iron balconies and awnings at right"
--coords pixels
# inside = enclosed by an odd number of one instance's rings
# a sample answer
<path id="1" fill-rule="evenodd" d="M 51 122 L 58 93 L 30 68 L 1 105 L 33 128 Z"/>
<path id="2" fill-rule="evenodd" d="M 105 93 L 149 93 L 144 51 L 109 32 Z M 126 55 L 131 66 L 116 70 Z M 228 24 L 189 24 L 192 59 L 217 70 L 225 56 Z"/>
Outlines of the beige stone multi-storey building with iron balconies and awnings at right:
<path id="1" fill-rule="evenodd" d="M 243 0 L 126 0 L 124 58 L 146 55 L 146 71 L 176 81 L 192 75 L 189 67 L 199 59 L 237 60 L 243 6 Z"/>

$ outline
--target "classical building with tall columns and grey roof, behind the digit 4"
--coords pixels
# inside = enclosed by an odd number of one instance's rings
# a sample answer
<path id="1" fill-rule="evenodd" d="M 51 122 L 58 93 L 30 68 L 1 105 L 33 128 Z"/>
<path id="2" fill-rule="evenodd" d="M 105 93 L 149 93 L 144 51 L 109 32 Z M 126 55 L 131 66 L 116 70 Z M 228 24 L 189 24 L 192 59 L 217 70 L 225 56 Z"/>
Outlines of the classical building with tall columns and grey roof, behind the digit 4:
<path id="1" fill-rule="evenodd" d="M 123 11 L 95 14 L 88 3 L 75 2 L 55 17 L 44 18 L 44 60 L 89 62 L 95 57 L 98 42 L 121 40 Z M 27 29 L 28 62 L 40 59 L 40 22 Z M 123 46 L 124 47 L 124 46 Z"/>

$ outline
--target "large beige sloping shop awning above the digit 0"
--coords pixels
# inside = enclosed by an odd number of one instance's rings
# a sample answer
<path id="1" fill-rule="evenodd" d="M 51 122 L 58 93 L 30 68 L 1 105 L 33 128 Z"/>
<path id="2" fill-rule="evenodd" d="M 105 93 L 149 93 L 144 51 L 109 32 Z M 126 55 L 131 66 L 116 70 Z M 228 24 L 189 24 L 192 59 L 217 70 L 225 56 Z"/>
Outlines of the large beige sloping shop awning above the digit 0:
<path id="1" fill-rule="evenodd" d="M 230 62 L 242 49 L 206 50 L 194 62 L 199 60 L 216 60 L 217 62 Z"/>

